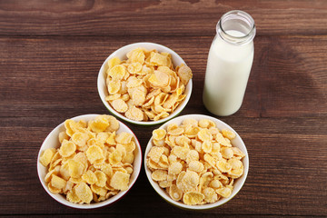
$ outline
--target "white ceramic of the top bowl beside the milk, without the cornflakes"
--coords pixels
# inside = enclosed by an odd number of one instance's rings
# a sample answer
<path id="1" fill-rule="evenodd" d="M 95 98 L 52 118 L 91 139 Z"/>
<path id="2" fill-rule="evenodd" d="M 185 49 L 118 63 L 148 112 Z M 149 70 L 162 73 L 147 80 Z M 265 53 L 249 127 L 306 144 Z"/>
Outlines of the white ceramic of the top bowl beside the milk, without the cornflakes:
<path id="1" fill-rule="evenodd" d="M 127 59 L 126 54 L 130 51 L 132 51 L 134 48 L 138 48 L 138 47 L 143 47 L 145 49 L 148 50 L 152 50 L 155 49 L 158 52 L 167 52 L 169 54 L 172 54 L 172 59 L 173 59 L 173 65 L 177 66 L 180 64 L 185 64 L 185 62 L 183 61 L 182 57 L 178 54 L 176 54 L 172 49 L 163 46 L 163 45 L 159 45 L 159 44 L 154 44 L 154 43 L 135 43 L 135 44 L 131 44 L 131 45 L 125 45 L 124 47 L 119 48 L 118 50 L 114 51 L 113 54 L 110 54 L 104 61 L 104 64 L 102 64 L 99 74 L 98 74 L 98 78 L 97 78 L 97 88 L 98 88 L 98 92 L 100 95 L 100 98 L 102 100 L 102 102 L 104 103 L 104 106 L 112 113 L 114 114 L 116 117 L 119 117 L 127 122 L 130 122 L 132 124 L 142 124 L 142 125 L 154 125 L 154 124 L 162 124 L 163 122 L 166 122 L 170 119 L 172 119 L 174 116 L 176 116 L 177 114 L 180 114 L 183 111 L 183 108 L 186 106 L 186 104 L 188 103 L 188 101 L 190 100 L 191 94 L 192 94 L 192 79 L 189 81 L 189 83 L 186 85 L 185 87 L 185 94 L 186 97 L 183 100 L 183 102 L 181 104 L 178 105 L 178 107 L 174 110 L 174 112 L 172 114 L 170 114 L 169 116 L 158 120 L 158 121 L 134 121 L 131 119 L 128 119 L 127 117 L 125 117 L 123 114 L 120 114 L 118 112 L 116 112 L 114 110 L 114 108 L 107 102 L 105 101 L 105 96 L 108 95 L 108 90 L 105 84 L 105 78 L 106 78 L 106 70 L 107 70 L 107 62 L 109 59 L 113 58 L 113 57 L 119 57 L 121 60 L 125 60 Z"/>

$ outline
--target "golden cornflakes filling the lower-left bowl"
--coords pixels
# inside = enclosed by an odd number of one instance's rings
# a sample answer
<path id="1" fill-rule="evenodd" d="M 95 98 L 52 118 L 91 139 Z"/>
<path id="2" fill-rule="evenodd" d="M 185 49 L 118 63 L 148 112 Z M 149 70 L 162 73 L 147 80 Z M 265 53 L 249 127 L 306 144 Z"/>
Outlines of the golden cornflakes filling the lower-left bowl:
<path id="1" fill-rule="evenodd" d="M 114 77 L 127 72 L 119 59 L 108 64 L 115 67 Z M 47 167 L 45 182 L 50 192 L 64 194 L 72 203 L 98 203 L 127 190 L 134 171 L 133 134 L 116 134 L 119 122 L 111 115 L 99 115 L 87 123 L 66 120 L 64 126 L 58 135 L 60 147 L 46 149 L 40 156 L 40 163 Z M 167 157 L 159 160 L 168 168 Z"/>

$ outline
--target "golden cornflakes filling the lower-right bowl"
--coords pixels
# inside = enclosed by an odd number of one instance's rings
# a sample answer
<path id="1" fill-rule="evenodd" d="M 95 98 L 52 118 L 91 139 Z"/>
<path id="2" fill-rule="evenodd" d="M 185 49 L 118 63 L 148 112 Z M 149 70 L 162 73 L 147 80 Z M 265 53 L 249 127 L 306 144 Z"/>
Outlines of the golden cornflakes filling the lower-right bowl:
<path id="1" fill-rule="evenodd" d="M 184 79 L 185 72 L 183 68 L 179 71 Z M 164 105 L 165 94 L 155 98 L 157 104 Z M 220 131 L 209 119 L 169 124 L 166 129 L 153 131 L 153 147 L 147 154 L 146 165 L 152 179 L 174 201 L 188 205 L 215 203 L 228 198 L 234 181 L 243 175 L 245 154 L 233 147 L 235 137 L 230 130 Z"/>

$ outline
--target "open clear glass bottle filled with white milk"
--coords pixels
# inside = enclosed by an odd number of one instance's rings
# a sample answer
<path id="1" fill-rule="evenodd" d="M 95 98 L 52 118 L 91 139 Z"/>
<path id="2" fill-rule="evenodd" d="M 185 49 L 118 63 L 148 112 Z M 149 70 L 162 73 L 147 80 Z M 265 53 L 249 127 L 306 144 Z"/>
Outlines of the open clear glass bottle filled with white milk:
<path id="1" fill-rule="evenodd" d="M 204 79 L 203 104 L 213 114 L 230 115 L 243 102 L 253 64 L 255 25 L 243 11 L 224 14 L 216 26 Z"/>

